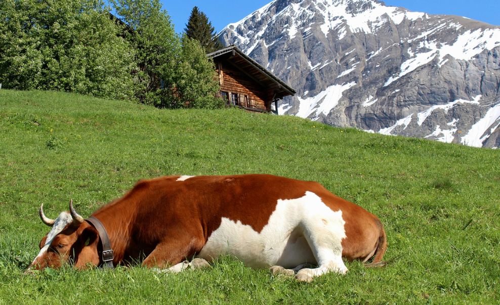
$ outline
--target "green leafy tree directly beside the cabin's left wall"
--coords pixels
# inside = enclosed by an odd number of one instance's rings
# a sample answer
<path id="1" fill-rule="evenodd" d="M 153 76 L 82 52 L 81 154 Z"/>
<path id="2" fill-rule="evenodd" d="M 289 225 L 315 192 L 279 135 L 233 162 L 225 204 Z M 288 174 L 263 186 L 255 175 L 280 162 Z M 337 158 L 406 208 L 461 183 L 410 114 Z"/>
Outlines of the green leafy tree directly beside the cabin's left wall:
<path id="1" fill-rule="evenodd" d="M 197 41 L 179 37 L 158 0 L 114 0 L 113 5 L 130 26 L 140 101 L 169 108 L 220 106 L 213 62 Z"/>

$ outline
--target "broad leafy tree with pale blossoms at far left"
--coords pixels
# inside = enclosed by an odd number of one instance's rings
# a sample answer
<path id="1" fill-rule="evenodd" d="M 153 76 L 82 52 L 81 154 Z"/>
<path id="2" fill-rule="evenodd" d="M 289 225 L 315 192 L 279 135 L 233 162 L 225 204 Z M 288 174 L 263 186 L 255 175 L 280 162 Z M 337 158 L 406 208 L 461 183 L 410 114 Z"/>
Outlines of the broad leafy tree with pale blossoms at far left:
<path id="1" fill-rule="evenodd" d="M 100 0 L 0 2 L 4 88 L 133 98 L 134 53 Z"/>

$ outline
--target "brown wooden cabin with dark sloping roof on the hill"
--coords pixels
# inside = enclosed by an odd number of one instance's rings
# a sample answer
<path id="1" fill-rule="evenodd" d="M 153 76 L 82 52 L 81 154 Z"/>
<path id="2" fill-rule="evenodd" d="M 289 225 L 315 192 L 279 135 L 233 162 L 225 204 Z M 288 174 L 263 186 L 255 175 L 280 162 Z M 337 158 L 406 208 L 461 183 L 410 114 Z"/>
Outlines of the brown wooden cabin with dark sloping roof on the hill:
<path id="1" fill-rule="evenodd" d="M 272 103 L 277 110 L 278 100 L 297 93 L 235 46 L 207 56 L 214 60 L 218 73 L 221 85 L 218 97 L 225 99 L 228 105 L 255 112 L 271 112 Z"/>

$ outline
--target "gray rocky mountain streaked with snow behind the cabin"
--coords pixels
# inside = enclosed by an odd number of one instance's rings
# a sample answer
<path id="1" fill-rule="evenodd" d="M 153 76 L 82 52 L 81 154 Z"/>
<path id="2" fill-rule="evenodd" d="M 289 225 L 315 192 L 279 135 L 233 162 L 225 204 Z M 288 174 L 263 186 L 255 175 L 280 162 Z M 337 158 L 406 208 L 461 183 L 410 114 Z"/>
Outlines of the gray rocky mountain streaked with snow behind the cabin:
<path id="1" fill-rule="evenodd" d="M 219 35 L 298 90 L 280 114 L 500 145 L 500 27 L 370 0 L 276 0 Z"/>

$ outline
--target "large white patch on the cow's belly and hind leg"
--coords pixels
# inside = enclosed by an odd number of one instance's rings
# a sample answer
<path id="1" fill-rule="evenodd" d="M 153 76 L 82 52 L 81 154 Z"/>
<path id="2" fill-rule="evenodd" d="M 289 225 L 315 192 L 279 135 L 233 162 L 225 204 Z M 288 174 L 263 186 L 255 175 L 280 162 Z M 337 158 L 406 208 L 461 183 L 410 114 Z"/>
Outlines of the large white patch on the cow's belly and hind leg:
<path id="1" fill-rule="evenodd" d="M 198 257 L 210 262 L 221 254 L 230 254 L 252 268 L 294 268 L 311 263 L 320 266 L 318 274 L 345 273 L 344 225 L 341 210 L 332 211 L 319 196 L 306 192 L 301 198 L 279 199 L 260 233 L 240 221 L 223 217 Z"/>

